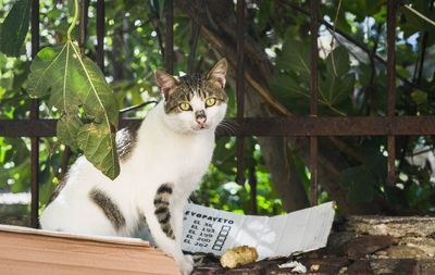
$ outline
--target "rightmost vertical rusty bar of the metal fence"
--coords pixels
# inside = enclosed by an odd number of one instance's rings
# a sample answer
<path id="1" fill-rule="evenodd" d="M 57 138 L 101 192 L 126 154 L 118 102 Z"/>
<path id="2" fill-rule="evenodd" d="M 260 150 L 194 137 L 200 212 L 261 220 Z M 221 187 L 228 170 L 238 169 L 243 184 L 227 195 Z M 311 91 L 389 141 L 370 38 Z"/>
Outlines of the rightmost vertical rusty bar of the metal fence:
<path id="1" fill-rule="evenodd" d="M 387 2 L 387 116 L 395 116 L 396 107 L 396 0 Z M 388 175 L 387 183 L 396 183 L 396 137 L 387 136 Z"/>

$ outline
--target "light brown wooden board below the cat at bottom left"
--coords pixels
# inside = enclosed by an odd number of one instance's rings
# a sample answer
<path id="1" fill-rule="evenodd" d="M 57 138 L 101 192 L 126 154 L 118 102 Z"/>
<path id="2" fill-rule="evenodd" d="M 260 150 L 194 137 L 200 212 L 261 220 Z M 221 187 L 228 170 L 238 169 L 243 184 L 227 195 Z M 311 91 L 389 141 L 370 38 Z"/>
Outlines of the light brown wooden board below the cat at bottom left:
<path id="1" fill-rule="evenodd" d="M 179 274 L 174 260 L 147 241 L 0 225 L 0 274 Z"/>

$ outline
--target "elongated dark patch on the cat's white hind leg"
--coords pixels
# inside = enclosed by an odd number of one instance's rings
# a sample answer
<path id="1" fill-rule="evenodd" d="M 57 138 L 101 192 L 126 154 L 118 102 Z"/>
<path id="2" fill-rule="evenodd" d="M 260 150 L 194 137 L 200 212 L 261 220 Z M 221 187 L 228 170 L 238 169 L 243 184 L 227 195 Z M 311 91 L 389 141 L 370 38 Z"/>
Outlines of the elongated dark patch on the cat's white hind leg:
<path id="1" fill-rule="evenodd" d="M 101 209 L 116 230 L 125 226 L 125 217 L 123 213 L 107 193 L 94 188 L 89 191 L 89 199 Z"/>

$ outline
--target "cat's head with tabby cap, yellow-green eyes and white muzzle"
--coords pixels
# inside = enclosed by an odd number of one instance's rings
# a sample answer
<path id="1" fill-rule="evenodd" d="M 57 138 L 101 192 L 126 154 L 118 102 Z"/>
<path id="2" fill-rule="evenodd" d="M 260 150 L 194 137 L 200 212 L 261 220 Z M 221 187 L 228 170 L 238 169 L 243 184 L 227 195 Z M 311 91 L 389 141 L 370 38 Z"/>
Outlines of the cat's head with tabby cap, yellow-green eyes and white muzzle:
<path id="1" fill-rule="evenodd" d="M 222 59 L 207 75 L 192 74 L 177 79 L 156 71 L 156 80 L 164 98 L 164 120 L 172 128 L 182 133 L 216 128 L 226 112 L 226 60 Z"/>

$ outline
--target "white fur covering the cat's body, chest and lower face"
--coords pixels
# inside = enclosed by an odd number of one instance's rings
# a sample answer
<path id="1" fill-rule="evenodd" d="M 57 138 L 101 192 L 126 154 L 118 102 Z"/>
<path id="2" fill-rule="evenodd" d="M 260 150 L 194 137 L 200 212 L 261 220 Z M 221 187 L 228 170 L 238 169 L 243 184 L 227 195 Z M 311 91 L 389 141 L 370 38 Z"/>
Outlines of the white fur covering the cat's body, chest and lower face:
<path id="1" fill-rule="evenodd" d="M 66 185 L 44 211 L 41 227 L 78 234 L 133 236 L 140 214 L 157 245 L 174 257 L 184 274 L 192 270 L 191 259 L 181 249 L 183 209 L 190 192 L 206 173 L 214 148 L 214 129 L 226 112 L 226 104 L 206 109 L 206 129 L 198 129 L 195 111 L 203 110 L 203 101 L 194 97 L 194 112 L 165 114 L 161 101 L 144 120 L 130 157 L 121 163 L 114 180 L 105 177 L 84 157 L 77 159 L 67 175 Z M 164 183 L 173 183 L 170 201 L 171 224 L 175 240 L 161 230 L 154 215 L 153 199 Z M 89 200 L 94 187 L 104 191 L 119 205 L 126 226 L 116 232 L 103 212 Z"/>

